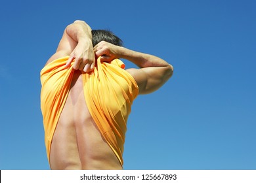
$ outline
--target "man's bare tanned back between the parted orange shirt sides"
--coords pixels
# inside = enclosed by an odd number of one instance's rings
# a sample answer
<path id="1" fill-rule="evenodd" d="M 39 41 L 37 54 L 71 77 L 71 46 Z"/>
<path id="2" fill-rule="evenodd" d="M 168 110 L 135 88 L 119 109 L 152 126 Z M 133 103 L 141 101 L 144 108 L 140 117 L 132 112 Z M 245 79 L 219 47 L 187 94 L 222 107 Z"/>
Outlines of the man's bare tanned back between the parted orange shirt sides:
<path id="1" fill-rule="evenodd" d="M 122 169 L 91 117 L 81 71 L 75 71 L 53 136 L 51 169 Z"/>

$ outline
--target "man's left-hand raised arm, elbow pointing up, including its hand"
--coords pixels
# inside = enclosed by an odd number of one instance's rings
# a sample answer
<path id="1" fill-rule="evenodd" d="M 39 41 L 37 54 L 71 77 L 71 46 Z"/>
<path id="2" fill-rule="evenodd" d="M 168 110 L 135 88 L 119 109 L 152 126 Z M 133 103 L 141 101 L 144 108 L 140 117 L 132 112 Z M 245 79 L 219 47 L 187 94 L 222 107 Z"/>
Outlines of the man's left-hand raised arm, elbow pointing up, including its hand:
<path id="1" fill-rule="evenodd" d="M 75 60 L 73 65 L 75 70 L 92 71 L 95 66 L 95 54 L 91 39 L 91 27 L 83 21 L 75 21 L 66 27 L 56 53 L 47 63 L 57 58 L 70 56 L 66 67 L 69 67 L 72 61 Z"/>

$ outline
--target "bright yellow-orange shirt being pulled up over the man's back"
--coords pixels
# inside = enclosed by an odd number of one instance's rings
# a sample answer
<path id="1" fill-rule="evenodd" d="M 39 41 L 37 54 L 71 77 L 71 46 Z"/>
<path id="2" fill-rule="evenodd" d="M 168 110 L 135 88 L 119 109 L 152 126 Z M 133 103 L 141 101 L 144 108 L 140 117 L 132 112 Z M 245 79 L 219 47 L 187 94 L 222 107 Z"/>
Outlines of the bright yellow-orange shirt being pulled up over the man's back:
<path id="1" fill-rule="evenodd" d="M 69 56 L 56 59 L 41 70 L 41 112 L 49 162 L 54 131 L 75 71 L 73 63 L 70 67 L 65 67 L 68 58 Z M 101 62 L 98 58 L 94 71 L 82 73 L 83 92 L 89 112 L 121 165 L 127 119 L 133 100 L 139 93 L 133 76 L 124 67 L 119 59 Z"/>

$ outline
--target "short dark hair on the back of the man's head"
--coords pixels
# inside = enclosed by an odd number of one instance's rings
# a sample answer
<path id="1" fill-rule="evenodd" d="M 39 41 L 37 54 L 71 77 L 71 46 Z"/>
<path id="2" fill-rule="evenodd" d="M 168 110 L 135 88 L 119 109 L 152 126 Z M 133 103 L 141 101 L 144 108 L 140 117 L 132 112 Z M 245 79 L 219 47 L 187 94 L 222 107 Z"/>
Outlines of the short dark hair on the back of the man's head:
<path id="1" fill-rule="evenodd" d="M 93 35 L 93 46 L 98 44 L 100 41 L 106 41 L 110 42 L 112 44 L 115 44 L 117 46 L 123 46 L 123 41 L 119 39 L 112 31 L 106 31 L 106 30 L 92 30 L 91 31 Z"/>

